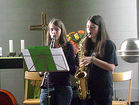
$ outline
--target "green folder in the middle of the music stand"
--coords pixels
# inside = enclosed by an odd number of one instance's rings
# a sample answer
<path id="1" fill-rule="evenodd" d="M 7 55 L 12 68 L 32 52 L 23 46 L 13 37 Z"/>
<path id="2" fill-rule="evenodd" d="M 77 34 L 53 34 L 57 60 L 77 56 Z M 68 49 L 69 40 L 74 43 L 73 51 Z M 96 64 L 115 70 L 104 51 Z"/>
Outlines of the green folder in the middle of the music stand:
<path id="1" fill-rule="evenodd" d="M 57 71 L 49 46 L 28 47 L 37 72 Z"/>

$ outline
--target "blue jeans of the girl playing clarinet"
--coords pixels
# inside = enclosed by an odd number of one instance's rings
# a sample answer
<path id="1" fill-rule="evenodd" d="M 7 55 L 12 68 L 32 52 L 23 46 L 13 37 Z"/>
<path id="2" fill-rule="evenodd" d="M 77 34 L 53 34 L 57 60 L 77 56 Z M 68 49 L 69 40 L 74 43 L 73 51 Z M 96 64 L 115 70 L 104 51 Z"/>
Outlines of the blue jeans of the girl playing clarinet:
<path id="1" fill-rule="evenodd" d="M 41 89 L 41 105 L 49 105 L 49 102 L 51 105 L 70 105 L 73 93 L 71 86 L 60 86 L 49 88 L 49 95 L 50 98 L 48 98 L 48 89 Z"/>

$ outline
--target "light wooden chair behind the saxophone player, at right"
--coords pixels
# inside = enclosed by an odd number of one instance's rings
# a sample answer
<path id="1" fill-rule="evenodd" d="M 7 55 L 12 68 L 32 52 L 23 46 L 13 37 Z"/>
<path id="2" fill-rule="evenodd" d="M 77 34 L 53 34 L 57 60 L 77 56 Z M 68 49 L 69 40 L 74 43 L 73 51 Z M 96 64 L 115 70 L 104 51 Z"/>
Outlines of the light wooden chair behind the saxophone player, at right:
<path id="1" fill-rule="evenodd" d="M 113 73 L 113 82 L 129 81 L 128 99 L 126 101 L 112 101 L 112 105 L 130 105 L 132 71 Z"/>

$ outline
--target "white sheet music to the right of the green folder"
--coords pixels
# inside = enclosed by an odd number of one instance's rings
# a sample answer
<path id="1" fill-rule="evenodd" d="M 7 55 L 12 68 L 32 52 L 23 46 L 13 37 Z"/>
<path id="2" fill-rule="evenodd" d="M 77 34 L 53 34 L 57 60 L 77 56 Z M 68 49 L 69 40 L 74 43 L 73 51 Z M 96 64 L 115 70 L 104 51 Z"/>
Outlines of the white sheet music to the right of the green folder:
<path id="1" fill-rule="evenodd" d="M 64 55 L 63 49 L 60 48 L 51 48 L 51 53 L 56 64 L 58 71 L 69 71 L 69 66 Z"/>

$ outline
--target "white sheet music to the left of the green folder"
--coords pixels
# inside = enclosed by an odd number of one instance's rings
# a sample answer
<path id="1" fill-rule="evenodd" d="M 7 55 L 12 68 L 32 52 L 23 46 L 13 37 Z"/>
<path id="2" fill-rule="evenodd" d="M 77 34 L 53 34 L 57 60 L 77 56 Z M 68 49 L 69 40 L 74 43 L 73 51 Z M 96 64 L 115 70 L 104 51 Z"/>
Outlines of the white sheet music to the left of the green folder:
<path id="1" fill-rule="evenodd" d="M 29 71 L 36 71 L 34 63 L 32 61 L 32 58 L 30 56 L 30 53 L 29 53 L 28 49 L 23 49 L 23 50 L 21 50 L 21 52 L 22 52 L 23 55 L 25 55 L 24 59 L 25 59 L 25 62 L 27 64 L 28 70 Z"/>

